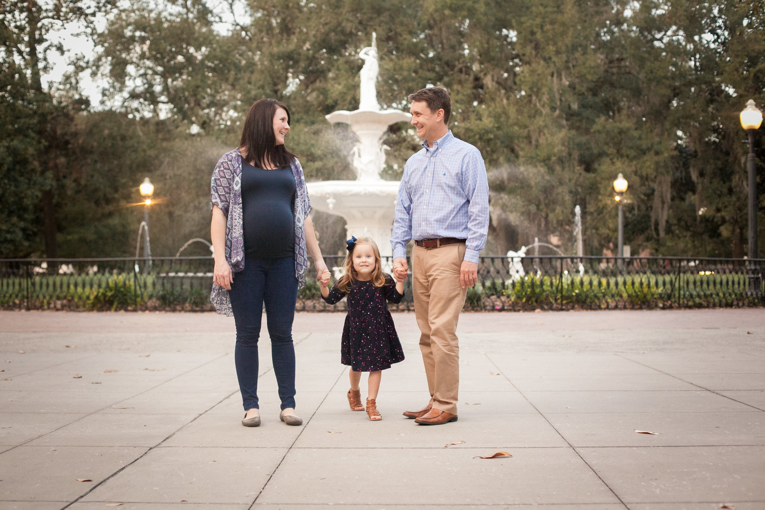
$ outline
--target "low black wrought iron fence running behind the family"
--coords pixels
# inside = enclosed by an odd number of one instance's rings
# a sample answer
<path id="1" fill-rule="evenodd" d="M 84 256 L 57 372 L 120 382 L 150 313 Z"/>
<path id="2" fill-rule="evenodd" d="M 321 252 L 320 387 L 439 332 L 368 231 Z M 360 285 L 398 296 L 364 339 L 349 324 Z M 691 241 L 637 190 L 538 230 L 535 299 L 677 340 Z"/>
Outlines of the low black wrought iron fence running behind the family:
<path id="1" fill-rule="evenodd" d="M 334 278 L 343 258 L 324 258 Z M 763 266 L 741 258 L 481 257 L 465 310 L 762 306 Z M 0 308 L 213 310 L 212 275 L 210 257 L 0 259 Z M 296 310 L 345 309 L 321 300 L 314 268 L 306 283 Z M 414 309 L 411 278 L 405 289 L 392 310 Z"/>

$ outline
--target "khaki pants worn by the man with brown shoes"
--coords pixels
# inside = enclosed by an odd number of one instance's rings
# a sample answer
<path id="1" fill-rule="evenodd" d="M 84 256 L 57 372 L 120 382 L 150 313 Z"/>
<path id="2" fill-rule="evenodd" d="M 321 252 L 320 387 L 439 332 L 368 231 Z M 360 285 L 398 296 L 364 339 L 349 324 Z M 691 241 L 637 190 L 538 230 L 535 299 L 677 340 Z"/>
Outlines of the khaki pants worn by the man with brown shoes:
<path id="1" fill-rule="evenodd" d="M 460 346 L 457 320 L 467 287 L 460 286 L 464 243 L 412 251 L 412 291 L 420 328 L 420 350 L 433 408 L 457 414 Z"/>

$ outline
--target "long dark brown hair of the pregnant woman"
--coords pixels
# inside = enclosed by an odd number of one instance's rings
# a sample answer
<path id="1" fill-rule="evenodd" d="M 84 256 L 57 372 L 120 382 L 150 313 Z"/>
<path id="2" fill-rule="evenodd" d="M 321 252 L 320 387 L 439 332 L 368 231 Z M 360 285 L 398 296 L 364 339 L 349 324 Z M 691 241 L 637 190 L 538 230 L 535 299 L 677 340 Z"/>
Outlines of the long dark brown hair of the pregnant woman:
<path id="1" fill-rule="evenodd" d="M 276 99 L 259 99 L 252 103 L 247 112 L 242 129 L 242 139 L 239 148 L 244 149 L 246 161 L 254 167 L 267 168 L 269 164 L 277 168 L 291 164 L 295 154 L 282 145 L 276 145 L 274 136 L 274 115 L 279 108 L 287 112 L 287 123 L 290 123 L 289 109 Z"/>

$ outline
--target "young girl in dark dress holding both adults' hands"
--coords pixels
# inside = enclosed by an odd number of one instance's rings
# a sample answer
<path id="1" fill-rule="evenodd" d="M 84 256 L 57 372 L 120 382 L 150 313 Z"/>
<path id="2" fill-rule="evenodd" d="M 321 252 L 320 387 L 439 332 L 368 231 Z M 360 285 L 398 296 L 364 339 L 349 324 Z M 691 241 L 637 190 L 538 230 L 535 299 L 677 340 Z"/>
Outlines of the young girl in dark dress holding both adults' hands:
<path id="1" fill-rule="evenodd" d="M 361 404 L 359 382 L 361 372 L 369 372 L 366 414 L 369 420 L 377 421 L 382 420 L 376 406 L 382 370 L 404 359 L 386 300 L 401 302 L 404 284 L 393 281 L 389 274 L 382 272 L 380 253 L 373 239 L 351 237 L 347 245 L 345 274 L 331 290 L 327 288 L 329 278 L 321 278 L 321 297 L 327 303 L 335 304 L 343 296 L 348 296 L 348 315 L 340 345 L 340 361 L 350 365 L 348 404 L 353 411 L 365 410 Z"/>

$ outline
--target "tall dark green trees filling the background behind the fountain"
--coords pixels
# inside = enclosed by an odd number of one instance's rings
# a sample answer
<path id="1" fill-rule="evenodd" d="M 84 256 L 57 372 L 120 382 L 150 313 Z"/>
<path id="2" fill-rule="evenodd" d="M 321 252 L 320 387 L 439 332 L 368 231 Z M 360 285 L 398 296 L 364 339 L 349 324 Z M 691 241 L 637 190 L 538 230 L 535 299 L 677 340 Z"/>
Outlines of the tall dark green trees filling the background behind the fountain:
<path id="1" fill-rule="evenodd" d="M 146 176 L 159 199 L 152 252 L 209 239 L 210 173 L 262 97 L 290 107 L 288 144 L 309 180 L 353 178 L 353 135 L 324 115 L 358 106 L 356 54 L 373 31 L 383 108 L 408 109 L 409 93 L 445 86 L 454 135 L 486 159 L 486 253 L 550 236 L 573 253 L 575 205 L 585 253 L 612 249 L 611 182 L 622 173 L 633 254 L 746 255 L 748 148 L 737 114 L 747 99 L 765 102 L 762 0 L 249 0 L 248 21 L 229 31 L 201 0 L 104 2 L 96 10 L 109 23 L 90 32 L 96 58 L 77 61 L 105 80 L 99 107 L 80 97 L 76 73 L 34 85 L 47 48 L 47 32 L 30 38 L 34 24 L 23 22 L 34 3 L 2 0 L 19 22 L 0 27 L 0 256 L 129 255 Z M 399 124 L 385 143 L 386 178 L 399 178 L 418 141 Z M 763 195 L 760 185 L 760 239 Z M 315 222 L 323 251 L 342 249 L 342 221 L 317 213 Z"/>

